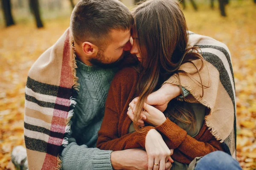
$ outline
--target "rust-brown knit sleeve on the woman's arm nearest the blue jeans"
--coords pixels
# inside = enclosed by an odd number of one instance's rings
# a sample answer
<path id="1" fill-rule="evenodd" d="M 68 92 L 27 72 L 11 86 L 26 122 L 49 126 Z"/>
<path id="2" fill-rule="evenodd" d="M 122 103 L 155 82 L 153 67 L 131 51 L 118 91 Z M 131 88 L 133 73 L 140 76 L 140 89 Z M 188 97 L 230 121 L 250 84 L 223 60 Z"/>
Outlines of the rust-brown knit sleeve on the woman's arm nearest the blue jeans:
<path id="1" fill-rule="evenodd" d="M 176 155 L 174 152 L 172 157 L 174 159 L 177 157 L 177 161 L 181 163 L 189 164 L 195 157 L 205 156 L 213 151 L 222 150 L 221 143 L 212 136 L 212 133 L 210 133 L 205 124 L 195 138 L 187 135 L 186 130 L 183 130 L 168 118 L 162 125 L 157 126 L 156 129 L 163 134 L 167 146 L 176 150 Z M 181 158 L 177 155 L 180 155 Z"/>

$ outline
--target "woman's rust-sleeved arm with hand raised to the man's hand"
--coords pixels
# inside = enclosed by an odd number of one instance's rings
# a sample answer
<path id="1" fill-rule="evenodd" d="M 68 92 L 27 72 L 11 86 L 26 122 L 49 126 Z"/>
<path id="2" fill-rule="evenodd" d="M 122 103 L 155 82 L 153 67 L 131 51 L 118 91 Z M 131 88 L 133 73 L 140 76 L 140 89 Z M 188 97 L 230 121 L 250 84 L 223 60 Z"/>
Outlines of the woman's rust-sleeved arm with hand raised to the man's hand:
<path id="1" fill-rule="evenodd" d="M 182 153 L 181 155 L 186 156 L 186 162 L 182 163 L 190 163 L 195 157 L 204 156 L 215 150 L 222 150 L 221 143 L 212 136 L 212 133 L 205 124 L 198 135 L 192 138 L 187 135 L 186 130 L 183 130 L 170 119 L 166 119 L 164 114 L 157 108 L 144 104 L 144 109 L 145 121 L 156 126 L 156 130 L 162 134 L 163 139 L 170 149 L 177 148 L 174 155 L 176 156 L 178 150 L 178 152 L 180 151 Z M 173 158 L 180 161 L 175 156 Z"/>

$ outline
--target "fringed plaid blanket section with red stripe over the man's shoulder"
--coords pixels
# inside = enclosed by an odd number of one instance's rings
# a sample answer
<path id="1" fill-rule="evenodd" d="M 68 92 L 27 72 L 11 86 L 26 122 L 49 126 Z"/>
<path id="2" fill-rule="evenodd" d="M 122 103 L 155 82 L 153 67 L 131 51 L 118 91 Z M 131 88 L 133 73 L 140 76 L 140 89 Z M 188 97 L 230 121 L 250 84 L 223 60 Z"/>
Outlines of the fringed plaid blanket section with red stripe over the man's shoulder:
<path id="1" fill-rule="evenodd" d="M 24 136 L 31 170 L 61 168 L 58 155 L 68 144 L 77 90 L 73 38 L 67 29 L 32 65 L 25 92 Z M 65 136 L 64 136 L 65 135 Z"/>

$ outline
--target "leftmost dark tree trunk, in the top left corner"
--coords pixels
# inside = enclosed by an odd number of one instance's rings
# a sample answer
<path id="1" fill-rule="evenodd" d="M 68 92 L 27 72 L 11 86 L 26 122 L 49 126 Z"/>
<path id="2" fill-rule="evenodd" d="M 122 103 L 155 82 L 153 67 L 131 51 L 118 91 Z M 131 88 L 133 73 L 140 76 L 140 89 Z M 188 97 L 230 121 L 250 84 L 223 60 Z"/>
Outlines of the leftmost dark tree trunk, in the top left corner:
<path id="1" fill-rule="evenodd" d="M 11 0 L 2 0 L 2 8 L 4 20 L 6 22 L 6 27 L 15 25 L 14 20 L 12 18 Z"/>

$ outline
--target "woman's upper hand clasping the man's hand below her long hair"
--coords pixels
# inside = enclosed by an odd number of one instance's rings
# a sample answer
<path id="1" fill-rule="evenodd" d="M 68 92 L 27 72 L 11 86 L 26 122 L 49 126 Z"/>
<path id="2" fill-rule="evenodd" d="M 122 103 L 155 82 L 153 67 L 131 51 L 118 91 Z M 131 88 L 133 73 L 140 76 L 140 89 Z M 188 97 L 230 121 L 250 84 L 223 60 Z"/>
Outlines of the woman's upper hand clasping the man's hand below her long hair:
<path id="1" fill-rule="evenodd" d="M 132 114 L 133 120 L 134 112 L 136 109 L 136 103 L 130 103 L 129 106 L 130 107 L 128 108 L 127 114 Z M 163 114 L 163 112 L 159 111 L 157 108 L 154 108 L 153 106 L 148 105 L 146 103 L 144 103 L 143 108 L 145 109 L 145 111 L 143 111 L 140 115 L 143 120 L 139 120 L 138 122 L 140 126 L 145 126 L 144 121 L 153 126 L 162 125 L 163 122 L 166 121 L 166 117 Z"/>

